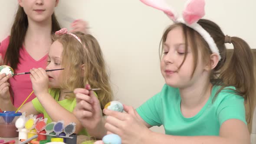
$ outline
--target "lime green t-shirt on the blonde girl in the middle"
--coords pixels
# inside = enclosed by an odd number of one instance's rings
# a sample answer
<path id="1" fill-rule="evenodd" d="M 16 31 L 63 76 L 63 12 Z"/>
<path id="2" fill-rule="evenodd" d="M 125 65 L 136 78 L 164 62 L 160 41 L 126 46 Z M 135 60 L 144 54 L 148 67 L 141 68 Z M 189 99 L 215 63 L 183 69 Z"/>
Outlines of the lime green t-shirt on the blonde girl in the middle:
<path id="1" fill-rule="evenodd" d="M 72 112 L 76 105 L 76 98 L 64 99 L 62 101 L 59 101 L 59 92 L 60 92 L 60 89 L 56 89 L 56 88 L 49 89 L 49 94 L 53 96 L 53 98 L 58 102 L 58 104 L 61 105 L 66 110 Z M 44 118 L 48 118 L 47 124 L 49 124 L 53 121 L 49 117 L 49 115 L 47 114 L 47 112 L 45 111 L 45 109 L 43 108 L 43 106 L 41 105 L 41 103 L 39 102 L 39 100 L 37 98 L 34 98 L 32 100 L 32 104 L 33 104 L 34 108 L 36 109 L 36 111 L 42 113 Z M 89 134 L 86 132 L 86 130 L 84 128 L 82 129 L 82 131 L 79 132 L 79 134 L 89 136 Z"/>

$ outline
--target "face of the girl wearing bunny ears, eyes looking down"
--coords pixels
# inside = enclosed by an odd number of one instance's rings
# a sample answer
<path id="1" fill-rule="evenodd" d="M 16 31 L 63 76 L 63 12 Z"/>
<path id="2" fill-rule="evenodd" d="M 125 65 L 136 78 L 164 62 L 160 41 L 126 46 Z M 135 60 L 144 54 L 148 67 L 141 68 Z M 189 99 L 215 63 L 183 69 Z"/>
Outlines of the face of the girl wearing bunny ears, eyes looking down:
<path id="1" fill-rule="evenodd" d="M 188 43 L 187 57 L 183 62 L 185 54 L 185 40 L 181 26 L 172 29 L 163 46 L 164 54 L 161 59 L 161 73 L 167 85 L 176 88 L 185 88 L 191 86 L 200 79 L 204 70 L 204 64 L 201 59 L 200 50 L 198 50 L 198 62 L 193 77 L 191 75 L 194 70 L 194 58 L 191 47 Z"/>

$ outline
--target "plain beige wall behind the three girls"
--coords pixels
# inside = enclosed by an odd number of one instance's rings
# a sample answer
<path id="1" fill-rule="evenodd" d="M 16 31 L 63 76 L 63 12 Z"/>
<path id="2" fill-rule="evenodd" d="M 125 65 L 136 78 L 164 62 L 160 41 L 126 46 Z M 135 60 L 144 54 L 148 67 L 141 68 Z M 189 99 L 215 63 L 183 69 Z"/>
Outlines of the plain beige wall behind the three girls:
<path id="1" fill-rule="evenodd" d="M 172 1 L 181 12 L 185 0 Z M 0 40 L 10 31 L 17 0 L 0 0 Z M 244 38 L 256 49 L 255 0 L 206 0 L 206 16 L 225 34 Z M 111 70 L 115 98 L 135 108 L 161 90 L 158 44 L 171 21 L 162 12 L 139 0 L 60 0 L 56 8 L 60 23 L 65 16 L 87 20 L 98 39 Z M 228 46 L 229 48 L 230 45 Z M 152 128 L 163 132 L 162 128 Z"/>

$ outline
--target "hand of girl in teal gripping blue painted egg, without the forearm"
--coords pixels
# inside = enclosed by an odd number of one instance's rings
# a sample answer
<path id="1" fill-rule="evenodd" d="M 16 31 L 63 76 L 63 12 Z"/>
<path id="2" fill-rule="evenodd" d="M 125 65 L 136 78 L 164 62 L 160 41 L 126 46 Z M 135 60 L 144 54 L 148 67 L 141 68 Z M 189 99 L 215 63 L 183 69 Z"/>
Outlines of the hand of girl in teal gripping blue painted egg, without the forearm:
<path id="1" fill-rule="evenodd" d="M 103 110 L 107 115 L 105 128 L 108 134 L 118 134 L 122 144 L 143 144 L 143 138 L 148 136 L 150 130 L 139 121 L 134 108 L 124 105 L 124 110 L 127 113 Z"/>

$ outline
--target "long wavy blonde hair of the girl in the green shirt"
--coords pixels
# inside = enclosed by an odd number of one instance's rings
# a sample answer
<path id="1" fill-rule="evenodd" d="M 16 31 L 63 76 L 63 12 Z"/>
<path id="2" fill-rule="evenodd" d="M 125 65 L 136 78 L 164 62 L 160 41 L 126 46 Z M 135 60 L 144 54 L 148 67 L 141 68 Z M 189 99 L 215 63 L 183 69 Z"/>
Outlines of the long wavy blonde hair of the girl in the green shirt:
<path id="1" fill-rule="evenodd" d="M 112 88 L 102 50 L 92 35 L 81 32 L 74 34 L 82 44 L 69 34 L 53 36 L 53 40 L 63 46 L 61 65 L 66 70 L 61 73 L 61 88 L 73 91 L 75 88 L 85 88 L 86 84 L 90 84 L 91 88 L 101 88 L 96 93 L 103 109 L 112 101 Z M 81 65 L 85 65 L 84 73 L 81 73 Z"/>

